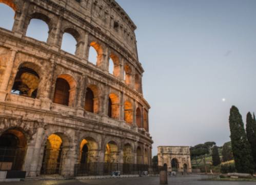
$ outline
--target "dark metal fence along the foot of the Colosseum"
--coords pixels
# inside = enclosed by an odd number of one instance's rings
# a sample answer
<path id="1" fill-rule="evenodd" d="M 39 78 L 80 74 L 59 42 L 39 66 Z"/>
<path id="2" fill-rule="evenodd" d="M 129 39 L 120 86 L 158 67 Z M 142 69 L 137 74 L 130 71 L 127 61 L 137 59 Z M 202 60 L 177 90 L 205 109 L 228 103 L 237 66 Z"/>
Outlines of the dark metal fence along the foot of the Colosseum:
<path id="1" fill-rule="evenodd" d="M 160 166 L 113 162 L 90 162 L 84 164 L 76 164 L 74 169 L 74 176 L 113 175 L 115 172 L 118 172 L 118 174 L 121 175 L 142 175 L 143 172 L 147 172 L 147 174 L 159 174 L 161 170 L 163 170 L 163 167 Z"/>

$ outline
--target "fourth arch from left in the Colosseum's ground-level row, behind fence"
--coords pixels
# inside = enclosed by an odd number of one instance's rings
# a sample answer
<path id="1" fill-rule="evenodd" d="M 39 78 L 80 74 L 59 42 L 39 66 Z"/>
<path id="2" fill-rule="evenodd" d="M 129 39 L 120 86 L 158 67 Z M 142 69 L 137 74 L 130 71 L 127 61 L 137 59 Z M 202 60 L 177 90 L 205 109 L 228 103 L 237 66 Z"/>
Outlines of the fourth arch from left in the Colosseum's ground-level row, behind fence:
<path id="1" fill-rule="evenodd" d="M 106 145 L 104 161 L 107 163 L 118 162 L 118 147 L 115 142 L 110 141 Z"/>

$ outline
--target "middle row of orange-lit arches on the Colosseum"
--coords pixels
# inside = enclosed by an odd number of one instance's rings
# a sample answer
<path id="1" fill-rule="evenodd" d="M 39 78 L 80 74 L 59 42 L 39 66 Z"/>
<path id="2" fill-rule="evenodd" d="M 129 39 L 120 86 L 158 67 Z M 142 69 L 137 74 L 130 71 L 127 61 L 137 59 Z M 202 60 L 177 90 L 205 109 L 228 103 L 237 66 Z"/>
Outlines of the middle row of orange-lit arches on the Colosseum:
<path id="1" fill-rule="evenodd" d="M 40 91 L 42 77 L 38 74 L 39 68 L 30 63 L 23 63 L 19 66 L 16 73 L 11 92 L 17 95 L 37 98 Z M 41 87 L 42 88 L 42 87 Z M 55 104 L 74 107 L 77 91 L 77 83 L 69 74 L 58 75 L 55 80 L 54 93 L 52 102 Z M 87 112 L 98 114 L 100 105 L 102 104 L 101 93 L 96 85 L 87 85 L 84 99 L 84 110 Z M 102 105 L 105 106 L 105 105 Z M 113 119 L 121 119 L 121 101 L 118 94 L 110 93 L 108 96 L 108 113 L 107 115 Z M 124 120 L 133 124 L 133 104 L 131 101 L 124 102 Z M 139 128 L 148 130 L 147 111 L 142 106 L 136 108 L 136 124 Z"/>

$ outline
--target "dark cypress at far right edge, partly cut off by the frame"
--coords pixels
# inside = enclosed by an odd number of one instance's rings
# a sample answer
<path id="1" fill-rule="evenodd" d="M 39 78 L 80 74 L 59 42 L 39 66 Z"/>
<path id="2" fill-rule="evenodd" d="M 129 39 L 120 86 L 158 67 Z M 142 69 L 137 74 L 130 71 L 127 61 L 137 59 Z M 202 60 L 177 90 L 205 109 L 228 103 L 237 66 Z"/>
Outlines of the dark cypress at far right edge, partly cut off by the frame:
<path id="1" fill-rule="evenodd" d="M 254 116 L 254 115 L 253 115 Z M 254 169 L 256 170 L 256 122 L 250 112 L 248 112 L 246 117 L 246 134 L 248 141 L 251 145 L 252 157 L 254 160 Z"/>

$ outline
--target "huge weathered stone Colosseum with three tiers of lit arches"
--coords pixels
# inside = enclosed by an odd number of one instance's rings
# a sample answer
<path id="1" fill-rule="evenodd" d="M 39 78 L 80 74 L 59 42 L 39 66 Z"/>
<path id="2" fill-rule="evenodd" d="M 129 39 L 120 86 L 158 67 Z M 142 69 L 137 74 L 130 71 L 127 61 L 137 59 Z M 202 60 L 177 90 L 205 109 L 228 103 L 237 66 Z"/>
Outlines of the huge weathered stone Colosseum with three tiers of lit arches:
<path id="1" fill-rule="evenodd" d="M 120 5 L 0 3 L 15 14 L 11 30 L 0 28 L 0 170 L 36 177 L 149 168 L 153 141 L 144 70 L 136 26 Z M 27 36 L 32 19 L 47 24 L 46 42 Z M 76 41 L 74 54 L 62 49 L 66 33 Z M 91 50 L 95 63 L 88 59 Z"/>

